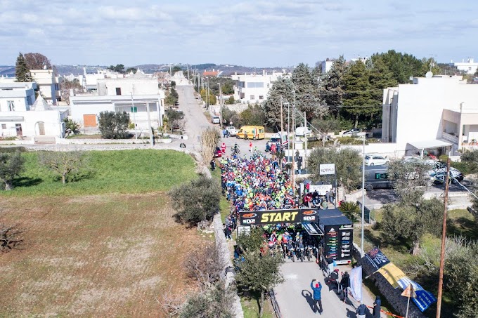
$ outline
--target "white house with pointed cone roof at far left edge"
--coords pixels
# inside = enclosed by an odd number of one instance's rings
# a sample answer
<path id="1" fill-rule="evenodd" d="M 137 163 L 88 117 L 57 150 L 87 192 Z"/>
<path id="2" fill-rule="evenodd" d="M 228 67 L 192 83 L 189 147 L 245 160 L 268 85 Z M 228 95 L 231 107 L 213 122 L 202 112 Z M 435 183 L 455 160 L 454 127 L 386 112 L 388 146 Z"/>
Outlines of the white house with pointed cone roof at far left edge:
<path id="1" fill-rule="evenodd" d="M 34 82 L 0 84 L 1 137 L 63 137 L 67 112 L 53 110 L 41 95 L 35 100 L 36 89 Z"/>

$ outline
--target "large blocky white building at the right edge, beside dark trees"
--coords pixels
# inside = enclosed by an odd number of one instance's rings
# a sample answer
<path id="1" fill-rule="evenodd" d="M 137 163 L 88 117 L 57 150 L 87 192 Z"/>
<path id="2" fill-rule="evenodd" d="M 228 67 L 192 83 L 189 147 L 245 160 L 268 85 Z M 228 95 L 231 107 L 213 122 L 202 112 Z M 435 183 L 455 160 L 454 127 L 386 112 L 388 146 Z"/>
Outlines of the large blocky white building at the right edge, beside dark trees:
<path id="1" fill-rule="evenodd" d="M 382 114 L 382 142 L 397 150 L 456 154 L 477 147 L 470 142 L 478 140 L 478 85 L 461 77 L 420 77 L 386 88 Z"/>

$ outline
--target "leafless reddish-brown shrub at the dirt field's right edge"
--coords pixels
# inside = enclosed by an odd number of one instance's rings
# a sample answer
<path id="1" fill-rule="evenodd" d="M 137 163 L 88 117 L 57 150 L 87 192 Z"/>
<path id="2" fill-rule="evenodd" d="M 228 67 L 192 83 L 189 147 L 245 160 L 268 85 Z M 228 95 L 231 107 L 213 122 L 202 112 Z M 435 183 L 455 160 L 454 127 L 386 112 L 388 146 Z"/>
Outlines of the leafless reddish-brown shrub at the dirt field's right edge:
<path id="1" fill-rule="evenodd" d="M 222 271 L 216 245 L 207 244 L 202 249 L 190 252 L 184 267 L 186 267 L 188 277 L 198 281 L 202 289 L 210 288 L 219 281 Z"/>

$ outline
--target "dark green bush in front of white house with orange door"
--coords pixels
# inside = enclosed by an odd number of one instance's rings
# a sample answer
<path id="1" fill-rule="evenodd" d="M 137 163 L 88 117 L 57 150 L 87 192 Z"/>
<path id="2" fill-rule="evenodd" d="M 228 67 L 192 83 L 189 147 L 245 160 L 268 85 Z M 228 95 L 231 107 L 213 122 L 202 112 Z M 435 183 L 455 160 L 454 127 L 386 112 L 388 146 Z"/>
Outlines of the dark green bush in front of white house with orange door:
<path id="1" fill-rule="evenodd" d="M 129 114 L 127 112 L 101 112 L 98 116 L 101 137 L 105 139 L 127 138 Z"/>

